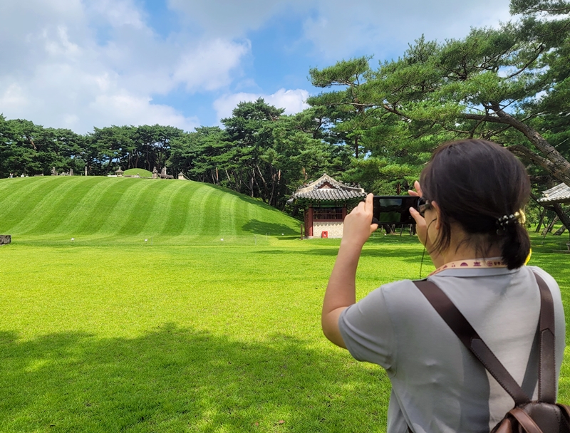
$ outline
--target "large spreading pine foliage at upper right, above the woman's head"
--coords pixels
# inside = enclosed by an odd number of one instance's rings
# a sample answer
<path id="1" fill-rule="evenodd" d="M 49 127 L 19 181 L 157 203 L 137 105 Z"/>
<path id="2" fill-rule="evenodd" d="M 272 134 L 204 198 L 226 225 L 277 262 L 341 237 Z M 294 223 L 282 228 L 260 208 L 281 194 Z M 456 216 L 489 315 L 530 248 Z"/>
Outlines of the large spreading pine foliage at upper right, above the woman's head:
<path id="1" fill-rule="evenodd" d="M 400 192 L 437 145 L 475 137 L 521 157 L 537 191 L 570 185 L 570 3 L 512 0 L 511 9 L 519 21 L 420 38 L 376 70 L 366 57 L 311 69 L 314 85 L 340 86 L 308 102 L 345 132 L 354 156 L 345 179 Z"/>

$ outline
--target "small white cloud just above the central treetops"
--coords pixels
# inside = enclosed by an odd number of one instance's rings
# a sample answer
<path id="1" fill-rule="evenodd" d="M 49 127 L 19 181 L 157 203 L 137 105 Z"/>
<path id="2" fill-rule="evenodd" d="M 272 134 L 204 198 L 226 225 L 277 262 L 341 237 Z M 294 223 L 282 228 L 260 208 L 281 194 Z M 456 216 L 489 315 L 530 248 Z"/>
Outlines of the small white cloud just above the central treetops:
<path id="1" fill-rule="evenodd" d="M 279 89 L 272 95 L 263 95 L 260 93 L 232 93 L 224 95 L 214 101 L 214 109 L 217 113 L 218 120 L 229 118 L 237 104 L 241 102 L 252 102 L 258 98 L 263 98 L 269 105 L 276 108 L 284 108 L 285 114 L 295 114 L 299 111 L 309 108 L 305 102 L 309 98 L 309 92 L 303 89 L 285 90 Z"/>

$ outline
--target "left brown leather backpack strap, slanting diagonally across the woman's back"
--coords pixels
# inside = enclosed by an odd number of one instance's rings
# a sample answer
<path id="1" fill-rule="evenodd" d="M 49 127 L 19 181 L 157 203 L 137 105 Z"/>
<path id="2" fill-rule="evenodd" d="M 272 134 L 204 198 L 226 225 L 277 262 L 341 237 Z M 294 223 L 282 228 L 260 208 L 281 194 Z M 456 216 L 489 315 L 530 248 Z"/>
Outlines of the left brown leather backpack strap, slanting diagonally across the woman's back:
<path id="1" fill-rule="evenodd" d="M 517 381 L 514 380 L 504 365 L 492 353 L 479 334 L 477 334 L 477 331 L 467 321 L 465 315 L 462 315 L 450 298 L 431 281 L 414 281 L 414 284 L 465 347 L 482 362 L 487 371 L 509 393 L 514 400 L 514 404 L 522 405 L 529 402 L 529 397 L 524 393 Z"/>

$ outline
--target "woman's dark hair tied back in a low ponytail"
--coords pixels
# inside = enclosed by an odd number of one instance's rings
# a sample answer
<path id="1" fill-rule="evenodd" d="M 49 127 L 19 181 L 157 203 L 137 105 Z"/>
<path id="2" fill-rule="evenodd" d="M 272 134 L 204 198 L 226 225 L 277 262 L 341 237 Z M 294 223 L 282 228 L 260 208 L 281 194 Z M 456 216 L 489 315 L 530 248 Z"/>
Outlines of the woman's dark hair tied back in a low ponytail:
<path id="1" fill-rule="evenodd" d="M 440 236 L 434 249 L 450 246 L 455 222 L 467 233 L 465 241 L 478 242 L 477 254 L 499 244 L 509 269 L 524 264 L 529 234 L 522 218 L 514 215 L 528 202 L 530 182 L 522 162 L 509 150 L 487 140 L 447 142 L 433 153 L 420 183 L 423 197 L 440 207 Z"/>

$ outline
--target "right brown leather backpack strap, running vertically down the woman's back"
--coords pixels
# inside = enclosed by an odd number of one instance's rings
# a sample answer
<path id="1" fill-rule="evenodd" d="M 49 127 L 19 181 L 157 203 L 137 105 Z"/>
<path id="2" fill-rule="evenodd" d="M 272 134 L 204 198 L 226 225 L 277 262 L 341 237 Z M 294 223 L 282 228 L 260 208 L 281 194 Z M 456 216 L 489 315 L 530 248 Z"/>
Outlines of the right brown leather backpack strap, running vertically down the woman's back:
<path id="1" fill-rule="evenodd" d="M 554 302 L 544 280 L 534 274 L 540 289 L 539 401 L 556 403 Z"/>

